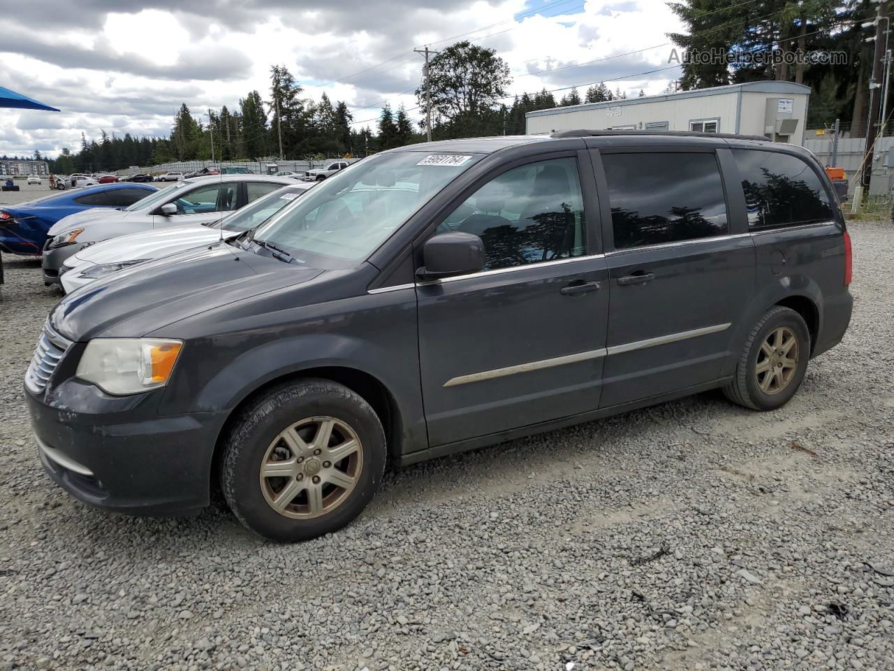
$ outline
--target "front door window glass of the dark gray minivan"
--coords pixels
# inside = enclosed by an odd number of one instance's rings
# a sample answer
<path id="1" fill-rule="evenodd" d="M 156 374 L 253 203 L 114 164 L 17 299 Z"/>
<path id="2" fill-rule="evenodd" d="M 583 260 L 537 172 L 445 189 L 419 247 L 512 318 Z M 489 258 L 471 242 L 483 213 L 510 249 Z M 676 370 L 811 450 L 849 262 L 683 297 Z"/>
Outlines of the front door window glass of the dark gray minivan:
<path id="1" fill-rule="evenodd" d="M 485 243 L 485 269 L 586 254 L 584 198 L 576 158 L 512 168 L 486 183 L 442 225 Z"/>

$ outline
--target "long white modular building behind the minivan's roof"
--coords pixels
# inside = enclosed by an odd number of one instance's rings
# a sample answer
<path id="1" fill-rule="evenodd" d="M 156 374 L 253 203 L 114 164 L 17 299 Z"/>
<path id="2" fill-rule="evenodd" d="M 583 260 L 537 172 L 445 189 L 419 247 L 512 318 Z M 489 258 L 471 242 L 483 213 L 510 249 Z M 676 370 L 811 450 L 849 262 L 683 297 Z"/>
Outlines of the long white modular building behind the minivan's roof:
<path id="1" fill-rule="evenodd" d="M 804 144 L 810 87 L 749 81 L 528 112 L 529 135 L 588 129 L 733 132 Z"/>

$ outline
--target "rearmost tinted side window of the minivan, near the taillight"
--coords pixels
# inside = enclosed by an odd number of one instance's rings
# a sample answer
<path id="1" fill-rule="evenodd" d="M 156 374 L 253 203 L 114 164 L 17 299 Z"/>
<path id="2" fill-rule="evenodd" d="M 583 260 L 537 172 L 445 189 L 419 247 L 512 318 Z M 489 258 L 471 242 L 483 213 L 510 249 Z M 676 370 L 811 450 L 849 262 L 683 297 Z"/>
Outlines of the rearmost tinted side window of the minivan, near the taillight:
<path id="1" fill-rule="evenodd" d="M 776 228 L 829 221 L 829 194 L 814 169 L 790 154 L 733 149 L 745 191 L 748 225 Z"/>

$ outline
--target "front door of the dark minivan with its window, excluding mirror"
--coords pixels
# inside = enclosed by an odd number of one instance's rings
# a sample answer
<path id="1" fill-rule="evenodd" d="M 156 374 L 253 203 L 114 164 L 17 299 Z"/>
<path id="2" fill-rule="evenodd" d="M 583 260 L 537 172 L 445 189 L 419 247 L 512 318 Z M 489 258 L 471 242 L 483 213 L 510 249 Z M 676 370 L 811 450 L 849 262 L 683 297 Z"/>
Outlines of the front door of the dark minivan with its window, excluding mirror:
<path id="1" fill-rule="evenodd" d="M 598 407 L 609 296 L 594 184 L 585 151 L 528 158 L 439 225 L 481 237 L 486 266 L 417 282 L 430 446 Z"/>

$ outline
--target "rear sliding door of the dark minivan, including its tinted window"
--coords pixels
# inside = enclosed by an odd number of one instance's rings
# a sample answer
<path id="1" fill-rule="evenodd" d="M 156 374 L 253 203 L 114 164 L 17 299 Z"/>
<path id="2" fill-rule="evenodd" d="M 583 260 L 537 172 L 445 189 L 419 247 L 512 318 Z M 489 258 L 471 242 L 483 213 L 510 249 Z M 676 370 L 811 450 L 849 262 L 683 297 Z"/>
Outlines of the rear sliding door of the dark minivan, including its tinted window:
<path id="1" fill-rule="evenodd" d="M 755 250 L 728 149 L 594 152 L 611 276 L 602 407 L 710 383 L 738 344 Z"/>

